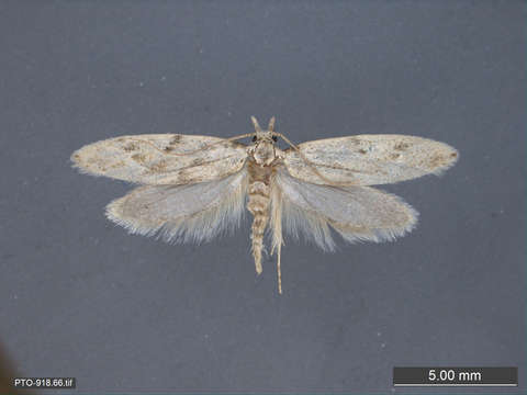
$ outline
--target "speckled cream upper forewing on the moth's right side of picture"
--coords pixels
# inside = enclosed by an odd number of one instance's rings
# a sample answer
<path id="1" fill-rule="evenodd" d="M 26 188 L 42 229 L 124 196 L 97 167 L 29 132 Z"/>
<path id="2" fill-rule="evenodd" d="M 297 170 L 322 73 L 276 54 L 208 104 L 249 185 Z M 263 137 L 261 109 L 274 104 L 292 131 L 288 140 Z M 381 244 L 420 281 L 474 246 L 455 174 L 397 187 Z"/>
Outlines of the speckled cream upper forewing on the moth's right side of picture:
<path id="1" fill-rule="evenodd" d="M 377 185 L 439 174 L 458 159 L 447 144 L 405 135 L 326 138 L 284 151 L 291 176 L 317 184 Z M 322 177 L 321 177 L 322 176 Z M 330 181 L 330 182 L 329 182 Z"/>

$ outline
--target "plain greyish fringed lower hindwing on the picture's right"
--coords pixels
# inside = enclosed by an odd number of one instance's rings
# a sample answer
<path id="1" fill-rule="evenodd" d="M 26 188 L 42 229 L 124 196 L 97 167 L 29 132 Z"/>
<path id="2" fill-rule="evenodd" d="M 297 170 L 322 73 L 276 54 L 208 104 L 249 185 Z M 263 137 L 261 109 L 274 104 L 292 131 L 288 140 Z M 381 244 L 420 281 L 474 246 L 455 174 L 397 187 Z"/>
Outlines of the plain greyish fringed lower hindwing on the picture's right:
<path id="1" fill-rule="evenodd" d="M 325 250 L 335 247 L 329 227 L 347 241 L 384 241 L 403 236 L 417 222 L 417 212 L 400 198 L 369 187 L 329 187 L 303 182 L 280 169 L 284 229 L 303 234 Z"/>

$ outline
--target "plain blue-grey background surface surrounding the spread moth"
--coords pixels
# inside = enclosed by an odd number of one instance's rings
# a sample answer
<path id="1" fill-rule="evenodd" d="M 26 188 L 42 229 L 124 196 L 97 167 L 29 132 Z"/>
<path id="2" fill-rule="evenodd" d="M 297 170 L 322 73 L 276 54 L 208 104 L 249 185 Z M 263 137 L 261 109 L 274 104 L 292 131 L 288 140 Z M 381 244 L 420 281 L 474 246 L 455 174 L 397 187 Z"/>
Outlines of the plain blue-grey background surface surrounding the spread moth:
<path id="1" fill-rule="evenodd" d="M 0 2 L 0 340 L 82 392 L 393 390 L 394 365 L 516 365 L 525 392 L 525 3 Z M 103 208 L 131 188 L 70 154 L 123 134 L 448 143 L 389 244 L 287 240 L 256 278 L 248 217 L 170 246 Z M 523 391 L 520 391 L 523 390 Z M 441 393 L 485 390 L 442 388 Z M 437 392 L 437 391 L 436 391 Z"/>

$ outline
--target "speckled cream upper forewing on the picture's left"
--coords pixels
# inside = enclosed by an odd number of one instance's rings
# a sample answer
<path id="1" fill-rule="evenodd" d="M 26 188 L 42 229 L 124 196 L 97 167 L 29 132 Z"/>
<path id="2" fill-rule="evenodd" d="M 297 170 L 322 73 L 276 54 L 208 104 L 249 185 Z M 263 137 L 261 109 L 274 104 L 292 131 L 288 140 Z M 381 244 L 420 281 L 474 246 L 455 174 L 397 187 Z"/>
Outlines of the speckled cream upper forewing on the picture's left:
<path id="1" fill-rule="evenodd" d="M 74 167 L 144 184 L 184 184 L 216 180 L 239 171 L 247 147 L 218 137 L 177 134 L 121 136 L 83 146 Z"/>

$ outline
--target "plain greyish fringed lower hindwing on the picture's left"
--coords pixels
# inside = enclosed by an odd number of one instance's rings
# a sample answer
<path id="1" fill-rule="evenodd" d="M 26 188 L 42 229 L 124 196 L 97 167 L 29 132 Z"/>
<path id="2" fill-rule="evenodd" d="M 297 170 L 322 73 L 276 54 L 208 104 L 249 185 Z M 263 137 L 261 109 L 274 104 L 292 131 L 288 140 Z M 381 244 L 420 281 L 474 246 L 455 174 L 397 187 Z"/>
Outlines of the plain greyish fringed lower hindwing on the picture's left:
<path id="1" fill-rule="evenodd" d="M 244 170 L 218 181 L 145 185 L 106 206 L 106 216 L 132 234 L 166 241 L 209 241 L 239 224 L 247 191 Z"/>

